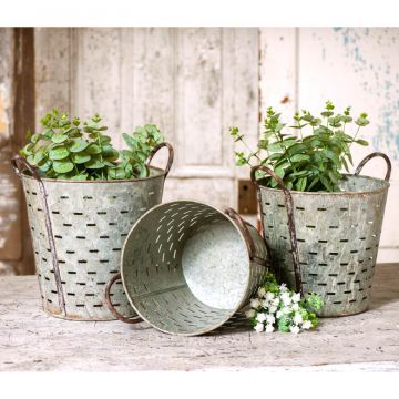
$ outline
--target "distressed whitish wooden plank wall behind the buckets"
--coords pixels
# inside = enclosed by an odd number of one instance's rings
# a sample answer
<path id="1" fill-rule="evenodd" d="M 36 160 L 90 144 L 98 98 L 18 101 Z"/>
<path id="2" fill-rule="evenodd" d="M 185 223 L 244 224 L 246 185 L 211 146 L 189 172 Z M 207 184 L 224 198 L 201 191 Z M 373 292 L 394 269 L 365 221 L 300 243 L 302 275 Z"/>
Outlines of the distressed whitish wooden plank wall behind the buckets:
<path id="1" fill-rule="evenodd" d="M 13 125 L 17 34 L 0 30 L 1 274 L 16 270 L 25 245 L 8 166 L 10 143 L 21 139 Z M 237 180 L 247 178 L 248 170 L 234 165 L 228 126 L 238 125 L 255 145 L 268 105 L 285 116 L 317 110 L 328 99 L 338 108 L 354 105 L 371 120 L 364 131 L 371 145 L 354 147 L 355 162 L 380 150 L 393 163 L 379 260 L 398 262 L 398 50 L 396 28 L 35 28 L 35 124 L 51 108 L 82 117 L 100 112 L 123 146 L 120 133 L 156 123 L 176 153 L 164 201 L 236 207 Z M 365 172 L 381 176 L 382 168 L 375 161 Z"/>

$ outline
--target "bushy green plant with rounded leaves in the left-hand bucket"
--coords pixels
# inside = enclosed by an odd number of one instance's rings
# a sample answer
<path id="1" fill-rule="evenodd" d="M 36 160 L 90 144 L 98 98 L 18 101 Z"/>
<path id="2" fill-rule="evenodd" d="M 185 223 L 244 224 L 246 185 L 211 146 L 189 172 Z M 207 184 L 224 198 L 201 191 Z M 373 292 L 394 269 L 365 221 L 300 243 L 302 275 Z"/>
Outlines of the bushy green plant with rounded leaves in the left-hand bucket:
<path id="1" fill-rule="evenodd" d="M 149 176 L 145 160 L 154 146 L 163 142 L 156 125 L 136 127 L 133 134 L 123 133 L 129 150 L 117 151 L 104 132 L 101 116 L 89 121 L 69 119 L 57 110 L 41 120 L 40 133 L 28 133 L 29 143 L 20 151 L 39 174 L 50 178 L 116 180 Z"/>

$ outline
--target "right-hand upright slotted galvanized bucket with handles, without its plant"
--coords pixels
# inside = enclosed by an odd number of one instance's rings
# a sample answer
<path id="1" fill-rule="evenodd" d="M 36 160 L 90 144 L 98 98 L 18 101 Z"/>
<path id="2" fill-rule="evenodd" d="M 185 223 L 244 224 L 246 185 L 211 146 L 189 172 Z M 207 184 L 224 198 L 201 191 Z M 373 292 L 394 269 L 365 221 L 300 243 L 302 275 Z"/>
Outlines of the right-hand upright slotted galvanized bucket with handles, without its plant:
<path id="1" fill-rule="evenodd" d="M 375 156 L 387 162 L 385 180 L 359 176 Z M 280 190 L 262 185 L 256 171 L 273 176 Z M 275 272 L 298 291 L 320 295 L 326 305 L 319 316 L 354 315 L 370 303 L 390 171 L 388 156 L 372 153 L 346 175 L 341 192 L 311 193 L 288 191 L 268 167 L 252 168 Z"/>

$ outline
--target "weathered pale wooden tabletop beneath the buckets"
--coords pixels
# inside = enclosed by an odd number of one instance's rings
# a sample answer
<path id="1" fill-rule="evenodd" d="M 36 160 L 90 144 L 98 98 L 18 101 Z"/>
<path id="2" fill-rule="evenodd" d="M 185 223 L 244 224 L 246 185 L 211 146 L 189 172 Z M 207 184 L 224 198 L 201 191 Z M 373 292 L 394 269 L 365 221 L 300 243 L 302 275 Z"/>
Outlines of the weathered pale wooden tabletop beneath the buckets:
<path id="1" fill-rule="evenodd" d="M 0 371 L 263 368 L 399 370 L 399 264 L 378 265 L 368 311 L 317 330 L 257 334 L 245 325 L 175 337 L 146 324 L 45 315 L 34 276 L 0 278 Z"/>

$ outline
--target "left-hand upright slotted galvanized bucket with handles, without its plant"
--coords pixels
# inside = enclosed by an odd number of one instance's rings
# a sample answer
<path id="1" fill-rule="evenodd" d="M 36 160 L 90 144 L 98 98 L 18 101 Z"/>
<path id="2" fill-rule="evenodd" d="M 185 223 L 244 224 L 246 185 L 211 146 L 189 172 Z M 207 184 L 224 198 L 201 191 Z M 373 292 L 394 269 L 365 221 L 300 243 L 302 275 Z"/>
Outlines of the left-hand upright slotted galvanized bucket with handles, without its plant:
<path id="1" fill-rule="evenodd" d="M 114 319 L 105 306 L 105 285 L 120 272 L 123 243 L 130 228 L 162 201 L 173 149 L 166 146 L 165 170 L 149 166 L 150 176 L 120 181 L 41 178 L 16 156 L 12 165 L 23 184 L 43 308 L 74 320 Z M 20 166 L 23 165 L 23 168 Z M 28 171 L 28 172 L 27 172 Z M 113 306 L 135 316 L 122 285 L 111 293 Z"/>

